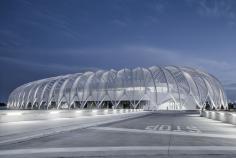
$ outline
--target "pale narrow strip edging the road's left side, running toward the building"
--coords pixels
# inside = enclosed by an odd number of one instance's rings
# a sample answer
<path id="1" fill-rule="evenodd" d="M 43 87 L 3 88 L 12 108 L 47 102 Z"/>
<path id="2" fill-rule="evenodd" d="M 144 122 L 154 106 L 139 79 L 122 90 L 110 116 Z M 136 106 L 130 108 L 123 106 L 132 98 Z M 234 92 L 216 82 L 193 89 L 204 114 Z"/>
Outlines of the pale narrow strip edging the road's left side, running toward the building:
<path id="1" fill-rule="evenodd" d="M 117 122 L 117 121 L 127 120 L 127 119 L 130 119 L 130 118 L 140 117 L 142 115 L 147 115 L 147 113 L 129 113 L 129 114 L 141 114 L 141 115 L 127 116 L 127 117 L 119 118 L 119 119 L 116 118 L 115 120 L 102 121 L 102 122 L 93 122 L 93 123 L 88 123 L 88 124 L 84 123 L 82 125 L 73 126 L 73 127 L 69 126 L 67 128 L 65 128 L 65 127 L 55 127 L 55 128 L 53 128 L 53 131 L 46 131 L 46 132 L 39 133 L 39 134 L 33 134 L 31 136 L 24 136 L 24 137 L 20 137 L 20 138 L 14 138 L 14 139 L 8 139 L 8 140 L 0 141 L 0 145 L 9 144 L 9 143 L 23 142 L 23 141 L 29 141 L 31 139 L 46 137 L 46 136 L 50 136 L 50 135 L 53 135 L 53 134 L 59 134 L 59 133 L 62 133 L 62 132 L 69 132 L 69 131 L 73 131 L 73 130 L 77 130 L 77 129 L 84 129 L 84 128 L 99 126 L 99 125 L 103 125 L 103 124 L 107 124 L 107 123 L 113 123 L 113 122 Z"/>

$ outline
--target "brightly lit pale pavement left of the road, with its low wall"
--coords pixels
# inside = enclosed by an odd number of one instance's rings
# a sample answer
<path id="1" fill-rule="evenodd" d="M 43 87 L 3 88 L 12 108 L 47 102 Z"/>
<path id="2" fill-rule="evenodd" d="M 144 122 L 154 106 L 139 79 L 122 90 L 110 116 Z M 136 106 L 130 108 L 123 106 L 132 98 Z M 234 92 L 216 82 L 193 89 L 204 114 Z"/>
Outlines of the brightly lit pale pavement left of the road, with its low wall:
<path id="1" fill-rule="evenodd" d="M 133 111 L 133 112 L 121 112 L 114 111 L 109 113 L 100 113 L 94 111 L 80 112 L 76 116 L 73 114 L 76 111 L 68 111 L 68 115 L 58 115 L 44 113 L 45 117 L 36 119 L 34 116 L 9 116 L 9 122 L 7 121 L 6 116 L 4 117 L 4 122 L 0 123 L 0 145 L 6 143 L 16 143 L 19 141 L 31 140 L 33 138 L 44 137 L 52 134 L 58 134 L 61 132 L 71 131 L 75 129 L 86 128 L 90 126 L 95 126 L 99 124 L 104 124 L 108 122 L 120 121 L 130 117 L 137 117 L 145 115 L 148 112 L 143 111 Z M 72 117 L 73 116 L 73 117 Z M 19 121 L 12 122 L 12 119 Z M 22 121 L 24 118 L 24 121 Z M 46 119 L 45 119 L 46 118 Z"/>

